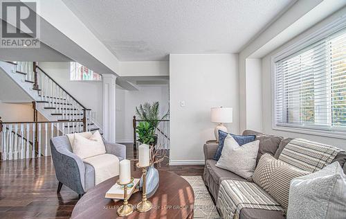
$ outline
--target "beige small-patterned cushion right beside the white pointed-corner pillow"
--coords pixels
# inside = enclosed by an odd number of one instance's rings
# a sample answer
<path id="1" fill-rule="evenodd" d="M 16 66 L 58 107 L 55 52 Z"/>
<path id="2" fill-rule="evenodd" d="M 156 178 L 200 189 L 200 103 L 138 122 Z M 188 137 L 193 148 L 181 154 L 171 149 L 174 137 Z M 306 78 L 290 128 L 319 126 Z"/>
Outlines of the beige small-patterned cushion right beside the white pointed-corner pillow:
<path id="1" fill-rule="evenodd" d="M 282 161 L 278 161 L 271 155 L 262 155 L 255 169 L 255 173 L 253 173 L 253 182 L 261 186 L 262 189 L 264 189 L 266 192 L 269 192 L 268 185 L 271 174 L 278 166 L 282 165 L 285 165 L 285 163 Z"/>

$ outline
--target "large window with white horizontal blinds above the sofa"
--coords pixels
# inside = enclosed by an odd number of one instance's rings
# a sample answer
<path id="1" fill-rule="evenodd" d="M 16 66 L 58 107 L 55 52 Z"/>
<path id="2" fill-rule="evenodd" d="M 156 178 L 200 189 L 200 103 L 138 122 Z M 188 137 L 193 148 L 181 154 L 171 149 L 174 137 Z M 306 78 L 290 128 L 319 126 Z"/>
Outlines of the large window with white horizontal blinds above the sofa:
<path id="1" fill-rule="evenodd" d="M 275 126 L 346 132 L 346 28 L 310 42 L 274 60 Z"/>

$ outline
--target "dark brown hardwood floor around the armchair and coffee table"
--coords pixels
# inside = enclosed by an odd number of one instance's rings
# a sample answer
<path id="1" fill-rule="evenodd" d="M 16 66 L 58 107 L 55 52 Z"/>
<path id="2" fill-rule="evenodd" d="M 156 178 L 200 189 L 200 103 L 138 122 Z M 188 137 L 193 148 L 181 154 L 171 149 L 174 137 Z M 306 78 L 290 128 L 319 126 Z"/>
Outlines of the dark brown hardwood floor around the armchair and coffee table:
<path id="1" fill-rule="evenodd" d="M 132 145 L 127 146 L 127 159 L 136 159 Z M 202 165 L 165 164 L 157 168 L 178 175 L 203 175 Z M 0 218 L 69 218 L 78 195 L 66 186 L 57 193 L 57 184 L 51 157 L 0 161 Z"/>

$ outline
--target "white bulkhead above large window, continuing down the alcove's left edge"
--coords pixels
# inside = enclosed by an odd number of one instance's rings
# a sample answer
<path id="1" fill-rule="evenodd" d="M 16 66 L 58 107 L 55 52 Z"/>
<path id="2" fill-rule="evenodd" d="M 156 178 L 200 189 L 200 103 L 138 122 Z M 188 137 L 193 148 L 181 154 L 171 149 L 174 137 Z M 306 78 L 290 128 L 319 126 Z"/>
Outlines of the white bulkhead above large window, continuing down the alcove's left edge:
<path id="1" fill-rule="evenodd" d="M 295 1 L 290 8 L 278 15 L 277 19 L 273 19 L 271 24 L 268 24 L 241 49 L 239 53 L 239 130 L 247 128 L 246 114 L 248 110 L 252 110 L 246 105 L 248 103 L 246 93 L 249 91 L 246 88 L 246 80 L 249 78 L 246 76 L 246 59 L 263 58 L 277 46 L 291 40 L 345 4 L 345 1 L 338 0 Z"/>

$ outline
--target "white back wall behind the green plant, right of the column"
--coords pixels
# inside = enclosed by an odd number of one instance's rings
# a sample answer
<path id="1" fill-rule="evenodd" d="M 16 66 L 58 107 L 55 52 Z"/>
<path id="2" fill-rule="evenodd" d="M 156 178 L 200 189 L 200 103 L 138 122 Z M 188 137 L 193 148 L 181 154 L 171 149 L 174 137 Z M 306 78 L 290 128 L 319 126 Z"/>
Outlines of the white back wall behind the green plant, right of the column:
<path id="1" fill-rule="evenodd" d="M 127 91 L 121 87 L 116 89 L 116 141 L 133 142 L 134 132 L 132 119 L 136 115 L 136 107 L 146 102 L 158 101 L 161 116 L 169 107 L 169 85 L 137 85 L 138 91 Z"/>

